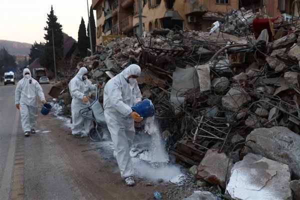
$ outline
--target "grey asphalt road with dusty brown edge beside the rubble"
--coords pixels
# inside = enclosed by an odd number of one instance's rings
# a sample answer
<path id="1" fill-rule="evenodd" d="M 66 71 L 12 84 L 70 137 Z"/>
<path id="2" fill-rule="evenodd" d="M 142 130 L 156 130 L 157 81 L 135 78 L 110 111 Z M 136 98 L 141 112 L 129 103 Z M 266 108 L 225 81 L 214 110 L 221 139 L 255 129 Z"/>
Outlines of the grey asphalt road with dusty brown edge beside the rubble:
<path id="1" fill-rule="evenodd" d="M 0 200 L 151 199 L 153 189 L 169 189 L 170 185 L 149 184 L 143 177 L 125 186 L 113 149 L 73 137 L 69 121 L 52 111 L 38 111 L 36 133 L 24 137 L 14 105 L 15 86 L 0 84 Z M 42 84 L 47 101 L 52 100 L 47 94 L 51 86 Z M 41 102 L 38 106 L 40 110 Z"/>

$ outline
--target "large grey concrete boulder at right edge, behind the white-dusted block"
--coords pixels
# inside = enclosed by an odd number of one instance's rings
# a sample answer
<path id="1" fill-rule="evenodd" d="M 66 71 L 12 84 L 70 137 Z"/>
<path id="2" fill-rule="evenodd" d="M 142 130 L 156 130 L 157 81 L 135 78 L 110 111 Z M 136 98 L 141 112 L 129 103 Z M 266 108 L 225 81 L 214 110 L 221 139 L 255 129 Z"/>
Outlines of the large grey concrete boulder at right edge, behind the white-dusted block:
<path id="1" fill-rule="evenodd" d="M 292 175 L 300 178 L 300 135 L 287 127 L 273 126 L 252 130 L 246 140 L 256 154 L 288 164 Z"/>

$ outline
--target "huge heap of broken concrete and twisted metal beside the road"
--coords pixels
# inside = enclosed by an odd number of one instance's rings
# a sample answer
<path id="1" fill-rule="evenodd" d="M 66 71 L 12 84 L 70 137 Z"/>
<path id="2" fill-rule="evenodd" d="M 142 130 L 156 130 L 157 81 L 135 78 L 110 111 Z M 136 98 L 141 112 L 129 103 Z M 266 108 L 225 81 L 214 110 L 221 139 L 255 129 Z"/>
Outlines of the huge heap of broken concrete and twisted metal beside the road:
<path id="1" fill-rule="evenodd" d="M 242 15 L 254 18 L 251 11 Z M 293 28 L 269 42 L 267 29 L 256 39 L 155 30 L 112 41 L 77 68 L 86 66 L 91 80 L 100 78 L 104 85 L 129 64 L 138 63 L 140 90 L 154 104 L 168 152 L 193 165 L 190 173 L 195 177 L 218 185 L 224 198 L 297 199 L 300 38 L 296 32 Z M 62 81 L 61 89 L 67 91 L 70 78 Z M 62 98 L 70 107 L 69 94 L 58 99 Z"/>

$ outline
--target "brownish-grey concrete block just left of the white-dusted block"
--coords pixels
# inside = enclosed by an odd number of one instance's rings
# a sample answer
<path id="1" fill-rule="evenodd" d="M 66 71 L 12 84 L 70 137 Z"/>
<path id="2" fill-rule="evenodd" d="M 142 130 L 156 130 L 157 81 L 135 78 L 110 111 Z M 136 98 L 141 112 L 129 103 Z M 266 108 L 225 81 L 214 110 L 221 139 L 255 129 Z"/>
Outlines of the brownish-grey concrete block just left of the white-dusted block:
<path id="1" fill-rule="evenodd" d="M 218 184 L 222 188 L 226 187 L 226 169 L 229 158 L 225 153 L 207 150 L 204 158 L 198 166 L 197 178 L 204 179 L 211 184 Z M 230 159 L 229 168 L 231 169 L 233 162 Z M 227 177 L 228 178 L 228 177 Z"/>

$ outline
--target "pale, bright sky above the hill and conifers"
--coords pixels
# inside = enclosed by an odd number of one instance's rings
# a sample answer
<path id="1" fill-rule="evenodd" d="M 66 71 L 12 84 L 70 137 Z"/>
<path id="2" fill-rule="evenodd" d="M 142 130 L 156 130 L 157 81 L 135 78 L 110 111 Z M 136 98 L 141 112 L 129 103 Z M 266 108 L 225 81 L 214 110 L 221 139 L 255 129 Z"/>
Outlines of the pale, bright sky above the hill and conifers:
<path id="1" fill-rule="evenodd" d="M 88 24 L 88 10 L 92 0 L 0 0 L 0 39 L 33 44 L 45 42 L 43 29 L 47 14 L 53 6 L 62 31 L 78 39 L 78 29 L 83 17 Z M 93 11 L 96 18 L 95 10 Z"/>

